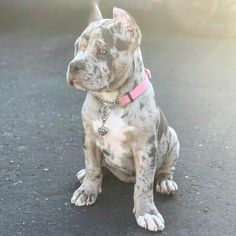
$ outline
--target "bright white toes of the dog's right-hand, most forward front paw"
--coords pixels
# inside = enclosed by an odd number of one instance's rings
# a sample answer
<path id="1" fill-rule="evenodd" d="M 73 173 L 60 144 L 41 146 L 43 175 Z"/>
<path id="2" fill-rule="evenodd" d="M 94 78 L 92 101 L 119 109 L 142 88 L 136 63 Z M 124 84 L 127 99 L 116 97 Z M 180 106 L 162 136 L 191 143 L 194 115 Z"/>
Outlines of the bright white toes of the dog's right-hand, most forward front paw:
<path id="1" fill-rule="evenodd" d="M 164 219 L 160 213 L 155 215 L 146 213 L 143 216 L 138 216 L 137 224 L 150 231 L 163 231 L 165 228 Z"/>

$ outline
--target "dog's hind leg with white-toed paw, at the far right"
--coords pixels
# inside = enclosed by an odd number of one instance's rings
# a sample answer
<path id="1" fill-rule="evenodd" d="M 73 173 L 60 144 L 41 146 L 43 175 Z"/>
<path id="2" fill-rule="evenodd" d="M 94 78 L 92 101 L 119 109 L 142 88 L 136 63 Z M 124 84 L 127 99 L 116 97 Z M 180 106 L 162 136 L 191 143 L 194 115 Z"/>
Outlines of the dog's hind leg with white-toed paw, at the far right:
<path id="1" fill-rule="evenodd" d="M 156 191 L 160 194 L 174 194 L 178 185 L 173 180 L 175 164 L 179 157 L 179 141 L 175 131 L 170 127 L 172 143 L 169 152 L 161 167 L 156 172 Z"/>

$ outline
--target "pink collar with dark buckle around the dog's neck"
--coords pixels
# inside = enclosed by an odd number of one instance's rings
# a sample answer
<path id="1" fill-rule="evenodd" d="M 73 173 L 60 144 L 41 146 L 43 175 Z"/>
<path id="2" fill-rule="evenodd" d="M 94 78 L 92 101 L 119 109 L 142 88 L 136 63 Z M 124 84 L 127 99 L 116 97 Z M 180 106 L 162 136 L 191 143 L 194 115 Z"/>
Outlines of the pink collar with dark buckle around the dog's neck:
<path id="1" fill-rule="evenodd" d="M 122 106 L 126 106 L 129 103 L 133 102 L 148 88 L 148 85 L 150 83 L 149 80 L 151 79 L 151 72 L 148 69 L 144 69 L 144 72 L 144 80 L 139 85 L 137 85 L 132 91 L 126 93 L 123 97 L 119 99 L 119 103 Z"/>

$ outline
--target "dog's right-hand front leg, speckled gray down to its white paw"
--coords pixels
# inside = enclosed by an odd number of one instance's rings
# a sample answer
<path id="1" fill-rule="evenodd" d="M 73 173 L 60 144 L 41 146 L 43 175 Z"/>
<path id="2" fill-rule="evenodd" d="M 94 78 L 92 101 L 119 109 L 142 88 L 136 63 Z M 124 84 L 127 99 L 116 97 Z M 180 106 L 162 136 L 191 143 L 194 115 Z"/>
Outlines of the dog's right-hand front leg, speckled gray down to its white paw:
<path id="1" fill-rule="evenodd" d="M 134 186 L 134 214 L 139 226 L 151 231 L 164 229 L 164 220 L 153 199 L 153 182 L 156 171 L 156 136 L 134 152 L 136 182 Z"/>

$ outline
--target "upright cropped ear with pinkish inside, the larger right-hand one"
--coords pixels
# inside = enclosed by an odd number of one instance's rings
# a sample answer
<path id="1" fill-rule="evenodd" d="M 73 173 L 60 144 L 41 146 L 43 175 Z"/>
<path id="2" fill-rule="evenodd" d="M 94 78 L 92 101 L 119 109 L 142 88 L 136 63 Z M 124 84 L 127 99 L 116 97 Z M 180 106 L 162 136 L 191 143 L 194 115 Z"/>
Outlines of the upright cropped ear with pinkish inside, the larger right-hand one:
<path id="1" fill-rule="evenodd" d="M 126 11 L 120 8 L 113 8 L 113 20 L 120 23 L 120 33 L 132 43 L 136 48 L 141 44 L 141 31 L 133 19 Z"/>

